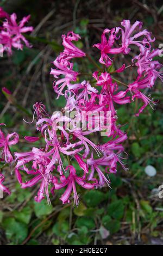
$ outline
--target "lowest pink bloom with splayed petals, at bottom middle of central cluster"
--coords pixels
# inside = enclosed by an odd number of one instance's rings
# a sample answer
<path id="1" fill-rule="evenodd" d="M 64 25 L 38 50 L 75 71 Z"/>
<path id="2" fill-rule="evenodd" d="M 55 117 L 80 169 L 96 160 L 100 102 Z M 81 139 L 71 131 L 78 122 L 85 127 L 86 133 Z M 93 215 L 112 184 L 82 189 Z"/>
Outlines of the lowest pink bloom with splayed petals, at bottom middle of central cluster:
<path id="1" fill-rule="evenodd" d="M 81 166 L 80 166 L 81 167 Z M 60 176 L 60 181 L 61 183 L 58 183 L 57 179 L 54 179 L 54 187 L 55 190 L 60 190 L 60 188 L 63 188 L 67 186 L 65 192 L 62 194 L 60 200 L 62 201 L 63 204 L 65 203 L 70 203 L 70 195 L 71 192 L 73 191 L 73 196 L 74 196 L 74 204 L 78 205 L 79 204 L 79 196 L 77 193 L 76 189 L 76 182 L 78 185 L 90 190 L 95 187 L 96 182 L 94 183 L 87 183 L 85 182 L 85 174 L 80 178 L 76 174 L 76 169 L 73 166 L 67 166 L 66 170 L 70 169 L 70 174 L 68 175 L 68 178 L 65 178 L 64 175 Z"/>

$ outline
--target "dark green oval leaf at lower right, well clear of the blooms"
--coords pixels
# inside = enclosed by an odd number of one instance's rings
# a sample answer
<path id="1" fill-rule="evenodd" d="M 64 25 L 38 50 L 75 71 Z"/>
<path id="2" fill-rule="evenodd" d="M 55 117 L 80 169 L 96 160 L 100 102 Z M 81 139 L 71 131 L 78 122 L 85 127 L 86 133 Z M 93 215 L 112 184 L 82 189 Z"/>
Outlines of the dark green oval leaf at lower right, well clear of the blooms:
<path id="1" fill-rule="evenodd" d="M 108 205 L 108 214 L 116 220 L 121 220 L 124 213 L 124 204 L 122 200 L 116 200 Z"/>

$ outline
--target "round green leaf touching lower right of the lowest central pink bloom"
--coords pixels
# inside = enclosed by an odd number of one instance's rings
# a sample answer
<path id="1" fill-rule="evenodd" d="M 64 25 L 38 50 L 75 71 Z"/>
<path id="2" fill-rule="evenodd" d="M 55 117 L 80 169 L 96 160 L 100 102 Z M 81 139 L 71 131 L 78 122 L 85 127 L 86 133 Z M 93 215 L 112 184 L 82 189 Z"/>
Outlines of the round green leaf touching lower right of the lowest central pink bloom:
<path id="1" fill-rule="evenodd" d="M 84 201 L 87 206 L 95 207 L 101 203 L 105 198 L 101 191 L 91 190 L 84 195 Z"/>

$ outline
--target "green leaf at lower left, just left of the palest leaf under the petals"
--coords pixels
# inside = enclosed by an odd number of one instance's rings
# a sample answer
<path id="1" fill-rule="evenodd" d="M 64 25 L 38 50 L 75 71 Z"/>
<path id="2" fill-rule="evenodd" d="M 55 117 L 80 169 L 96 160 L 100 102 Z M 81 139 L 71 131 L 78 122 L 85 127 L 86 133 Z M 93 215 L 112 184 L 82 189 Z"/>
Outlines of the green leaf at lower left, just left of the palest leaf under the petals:
<path id="1" fill-rule="evenodd" d="M 27 206 L 23 208 L 21 211 L 15 211 L 14 216 L 18 221 L 28 224 L 32 216 L 32 209 L 29 206 Z"/>

